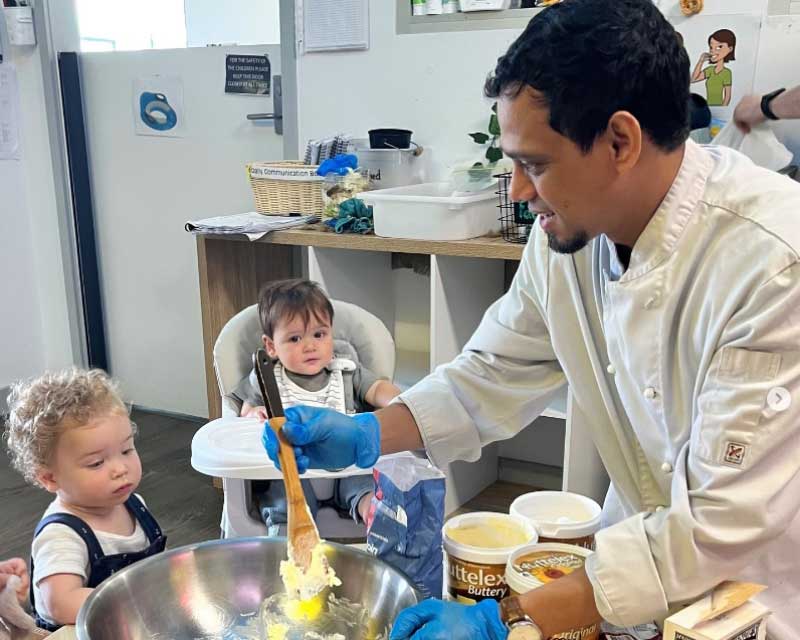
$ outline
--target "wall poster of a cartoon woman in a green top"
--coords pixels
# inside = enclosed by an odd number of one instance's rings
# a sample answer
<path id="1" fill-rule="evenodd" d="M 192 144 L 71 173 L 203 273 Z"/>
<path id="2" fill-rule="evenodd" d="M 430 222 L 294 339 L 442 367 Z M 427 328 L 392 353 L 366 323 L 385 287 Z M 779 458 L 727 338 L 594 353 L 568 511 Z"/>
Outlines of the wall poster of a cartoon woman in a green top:
<path id="1" fill-rule="evenodd" d="M 692 92 L 708 101 L 712 117 L 727 122 L 753 90 L 761 18 L 707 15 L 675 20 L 691 64 Z"/>

